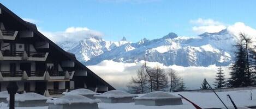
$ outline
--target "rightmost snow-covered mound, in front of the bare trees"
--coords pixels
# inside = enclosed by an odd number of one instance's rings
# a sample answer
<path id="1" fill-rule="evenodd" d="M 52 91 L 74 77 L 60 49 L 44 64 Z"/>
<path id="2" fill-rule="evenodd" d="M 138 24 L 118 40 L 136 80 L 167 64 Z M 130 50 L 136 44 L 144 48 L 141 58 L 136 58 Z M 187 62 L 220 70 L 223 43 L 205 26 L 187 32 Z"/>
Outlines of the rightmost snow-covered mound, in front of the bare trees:
<path id="1" fill-rule="evenodd" d="M 137 100 L 141 100 L 141 99 L 147 99 L 147 100 L 157 100 L 157 99 L 169 99 L 169 98 L 180 98 L 180 97 L 176 97 L 175 95 L 172 95 L 170 93 L 167 92 L 163 92 L 163 91 L 155 91 L 155 92 L 150 92 L 148 94 L 145 94 L 141 97 L 137 97 L 134 99 Z"/>

